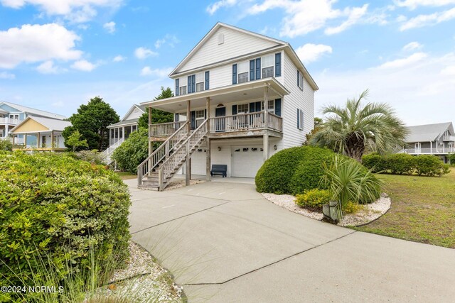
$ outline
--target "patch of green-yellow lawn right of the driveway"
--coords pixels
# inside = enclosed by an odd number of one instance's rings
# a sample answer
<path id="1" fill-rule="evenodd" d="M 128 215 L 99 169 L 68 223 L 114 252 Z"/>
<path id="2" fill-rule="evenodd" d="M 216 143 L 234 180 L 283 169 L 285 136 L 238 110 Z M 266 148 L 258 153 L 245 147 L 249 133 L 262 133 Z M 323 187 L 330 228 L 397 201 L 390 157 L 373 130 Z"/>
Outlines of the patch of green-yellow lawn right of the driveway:
<path id="1" fill-rule="evenodd" d="M 455 248 L 455 169 L 442 177 L 378 175 L 392 199 L 380 219 L 358 231 Z"/>

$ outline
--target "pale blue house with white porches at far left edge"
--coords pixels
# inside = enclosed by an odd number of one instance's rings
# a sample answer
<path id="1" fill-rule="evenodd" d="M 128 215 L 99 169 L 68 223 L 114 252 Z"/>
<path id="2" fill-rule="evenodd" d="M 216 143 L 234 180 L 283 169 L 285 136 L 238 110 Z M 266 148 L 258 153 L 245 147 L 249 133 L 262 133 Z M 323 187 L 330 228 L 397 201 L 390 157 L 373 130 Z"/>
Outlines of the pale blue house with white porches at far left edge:
<path id="1" fill-rule="evenodd" d="M 41 111 L 39 109 L 32 109 L 31 107 L 14 104 L 11 102 L 0 101 L 0 140 L 11 140 L 9 136 L 11 130 L 25 120 L 28 116 L 36 116 L 50 119 L 63 120 L 65 116 L 59 114 L 49 113 L 48 111 Z M 34 139 L 30 138 L 29 143 Z M 24 136 L 21 134 L 16 136 L 16 144 L 23 144 L 25 141 Z"/>

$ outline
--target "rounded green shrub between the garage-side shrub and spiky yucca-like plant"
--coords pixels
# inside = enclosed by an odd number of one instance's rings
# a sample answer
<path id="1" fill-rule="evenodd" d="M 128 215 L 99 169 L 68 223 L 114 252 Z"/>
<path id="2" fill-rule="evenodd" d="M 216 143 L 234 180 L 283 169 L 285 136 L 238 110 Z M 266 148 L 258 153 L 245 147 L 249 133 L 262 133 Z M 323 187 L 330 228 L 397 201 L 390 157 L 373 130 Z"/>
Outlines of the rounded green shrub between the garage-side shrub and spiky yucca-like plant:
<path id="1" fill-rule="evenodd" d="M 324 187 L 320 184 L 321 177 L 324 174 L 323 164 L 330 164 L 333 156 L 333 150 L 328 148 L 315 148 L 308 146 L 303 160 L 297 165 L 297 169 L 289 182 L 289 192 L 291 194 L 301 194 L 307 189 Z"/>

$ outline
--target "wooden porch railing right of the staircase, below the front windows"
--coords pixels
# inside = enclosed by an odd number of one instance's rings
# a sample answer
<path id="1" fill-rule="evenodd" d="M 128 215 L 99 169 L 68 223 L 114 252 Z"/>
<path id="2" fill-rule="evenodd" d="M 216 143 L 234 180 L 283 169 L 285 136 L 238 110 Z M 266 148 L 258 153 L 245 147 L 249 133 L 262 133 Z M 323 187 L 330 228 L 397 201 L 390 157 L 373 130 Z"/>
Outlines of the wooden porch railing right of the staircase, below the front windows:
<path id="1" fill-rule="evenodd" d="M 267 116 L 267 119 L 265 118 Z M 210 118 L 210 132 L 250 131 L 269 128 L 283 131 L 282 117 L 272 113 L 258 111 L 249 114 L 220 116 Z"/>

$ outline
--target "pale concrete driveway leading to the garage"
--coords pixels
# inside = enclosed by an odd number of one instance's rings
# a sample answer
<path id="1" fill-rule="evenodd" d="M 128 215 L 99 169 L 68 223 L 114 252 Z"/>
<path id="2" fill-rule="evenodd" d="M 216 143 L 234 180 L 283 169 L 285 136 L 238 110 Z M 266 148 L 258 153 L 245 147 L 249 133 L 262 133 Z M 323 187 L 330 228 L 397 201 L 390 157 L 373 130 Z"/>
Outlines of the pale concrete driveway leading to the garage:
<path id="1" fill-rule="evenodd" d="M 135 188 L 133 241 L 188 302 L 454 302 L 455 250 L 325 224 L 282 209 L 254 184 Z"/>

